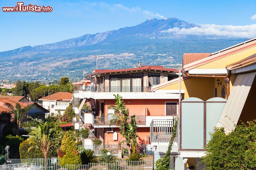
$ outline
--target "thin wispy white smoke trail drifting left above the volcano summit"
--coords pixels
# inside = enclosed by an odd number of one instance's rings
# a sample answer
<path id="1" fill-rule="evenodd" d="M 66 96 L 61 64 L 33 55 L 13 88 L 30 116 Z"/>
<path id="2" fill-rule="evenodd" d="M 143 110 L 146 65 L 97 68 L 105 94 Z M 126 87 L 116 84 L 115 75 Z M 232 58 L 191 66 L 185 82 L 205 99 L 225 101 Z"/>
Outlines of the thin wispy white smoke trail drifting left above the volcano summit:
<path id="1" fill-rule="evenodd" d="M 140 12 L 144 15 L 146 15 L 147 17 L 159 17 L 159 18 L 164 18 L 164 16 L 158 14 L 158 13 L 154 13 L 152 11 L 148 11 L 148 10 L 142 10 L 140 7 L 132 7 L 132 8 L 129 8 L 129 7 L 126 7 L 122 4 L 114 4 L 115 7 L 118 7 L 120 9 L 123 9 L 123 10 L 126 10 L 126 11 L 129 11 L 129 12 Z"/>

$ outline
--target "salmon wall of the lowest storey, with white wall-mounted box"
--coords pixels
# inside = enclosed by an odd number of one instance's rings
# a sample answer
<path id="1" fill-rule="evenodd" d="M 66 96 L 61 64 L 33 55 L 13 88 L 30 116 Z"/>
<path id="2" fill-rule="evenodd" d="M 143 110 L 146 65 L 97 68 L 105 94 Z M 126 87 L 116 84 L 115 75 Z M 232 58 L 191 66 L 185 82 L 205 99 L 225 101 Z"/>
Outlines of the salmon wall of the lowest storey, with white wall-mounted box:
<path id="1" fill-rule="evenodd" d="M 125 140 L 125 138 L 122 135 L 120 135 L 120 129 L 118 127 L 115 127 L 113 130 L 114 130 L 114 132 L 118 133 L 117 134 L 118 140 L 113 141 L 113 133 L 106 132 L 107 129 L 105 128 L 105 145 L 118 144 L 119 141 Z M 149 127 L 138 127 L 137 135 L 138 135 L 138 137 L 136 138 L 137 143 L 139 143 L 139 144 L 149 144 L 150 143 L 150 128 Z"/>

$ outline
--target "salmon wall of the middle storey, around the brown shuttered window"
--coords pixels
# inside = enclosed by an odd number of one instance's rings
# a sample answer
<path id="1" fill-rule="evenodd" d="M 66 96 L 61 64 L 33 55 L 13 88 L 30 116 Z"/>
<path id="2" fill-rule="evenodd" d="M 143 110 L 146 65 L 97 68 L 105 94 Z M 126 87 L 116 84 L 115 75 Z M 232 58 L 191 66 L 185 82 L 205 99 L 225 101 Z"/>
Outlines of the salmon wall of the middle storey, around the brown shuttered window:
<path id="1" fill-rule="evenodd" d="M 124 102 L 131 116 L 144 116 L 146 113 L 146 116 L 165 116 L 165 102 L 178 104 L 178 99 L 124 99 Z M 108 114 L 108 106 L 111 104 L 115 104 L 114 99 L 105 99 L 105 115 Z"/>

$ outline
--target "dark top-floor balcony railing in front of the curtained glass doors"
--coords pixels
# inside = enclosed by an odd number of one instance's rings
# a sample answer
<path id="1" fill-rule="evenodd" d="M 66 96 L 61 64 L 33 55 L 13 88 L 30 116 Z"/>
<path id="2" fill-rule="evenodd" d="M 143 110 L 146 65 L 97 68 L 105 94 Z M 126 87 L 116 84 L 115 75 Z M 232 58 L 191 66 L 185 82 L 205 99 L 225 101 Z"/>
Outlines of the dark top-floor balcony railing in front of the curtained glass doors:
<path id="1" fill-rule="evenodd" d="M 77 90 L 92 91 L 92 92 L 149 92 L 151 87 L 144 86 L 76 86 L 74 85 L 74 93 Z"/>

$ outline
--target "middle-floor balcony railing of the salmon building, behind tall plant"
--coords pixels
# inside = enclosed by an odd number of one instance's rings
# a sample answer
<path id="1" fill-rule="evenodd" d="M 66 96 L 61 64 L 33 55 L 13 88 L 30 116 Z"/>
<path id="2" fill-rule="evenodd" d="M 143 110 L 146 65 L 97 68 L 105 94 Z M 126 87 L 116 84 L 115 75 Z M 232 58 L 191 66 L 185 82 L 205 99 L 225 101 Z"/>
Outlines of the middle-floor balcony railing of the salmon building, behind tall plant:
<path id="1" fill-rule="evenodd" d="M 131 122 L 131 117 L 128 118 L 128 123 Z M 109 126 L 114 125 L 113 122 L 115 120 L 115 116 L 94 116 L 93 117 L 93 125 L 97 126 Z M 135 116 L 135 120 L 137 125 L 146 125 L 146 116 Z"/>

